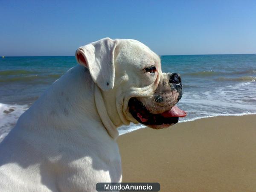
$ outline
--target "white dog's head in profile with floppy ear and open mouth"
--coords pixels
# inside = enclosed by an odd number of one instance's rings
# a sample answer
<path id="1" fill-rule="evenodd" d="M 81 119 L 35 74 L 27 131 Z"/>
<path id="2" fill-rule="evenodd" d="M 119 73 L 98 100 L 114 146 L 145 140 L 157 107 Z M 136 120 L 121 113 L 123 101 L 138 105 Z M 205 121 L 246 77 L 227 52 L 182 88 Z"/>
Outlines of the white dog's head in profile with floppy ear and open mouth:
<path id="1" fill-rule="evenodd" d="M 80 47 L 76 59 L 102 90 L 115 125 L 160 129 L 186 116 L 175 106 L 182 96 L 180 75 L 162 73 L 160 57 L 139 41 L 105 38 Z"/>

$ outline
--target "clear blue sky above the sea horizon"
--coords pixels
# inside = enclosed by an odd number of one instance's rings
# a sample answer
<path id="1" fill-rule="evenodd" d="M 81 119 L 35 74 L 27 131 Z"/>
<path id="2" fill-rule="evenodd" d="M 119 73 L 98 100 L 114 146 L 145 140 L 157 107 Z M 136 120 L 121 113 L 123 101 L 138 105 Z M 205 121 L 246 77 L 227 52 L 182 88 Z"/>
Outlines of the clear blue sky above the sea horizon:
<path id="1" fill-rule="evenodd" d="M 74 55 L 104 37 L 159 55 L 256 53 L 256 1 L 0 0 L 0 55 Z"/>

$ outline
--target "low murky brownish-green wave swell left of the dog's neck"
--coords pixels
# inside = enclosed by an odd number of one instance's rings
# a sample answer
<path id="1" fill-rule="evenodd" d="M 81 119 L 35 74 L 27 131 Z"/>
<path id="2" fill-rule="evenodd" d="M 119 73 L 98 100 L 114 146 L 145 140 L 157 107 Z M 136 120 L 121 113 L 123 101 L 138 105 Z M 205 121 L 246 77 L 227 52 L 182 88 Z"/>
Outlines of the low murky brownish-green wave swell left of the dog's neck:
<path id="1" fill-rule="evenodd" d="M 9 78 L 0 78 L 0 82 L 16 82 L 16 81 L 34 81 L 34 80 L 44 80 L 44 79 L 58 79 L 61 75 L 51 74 L 46 76 L 18 76 L 18 77 L 9 77 Z"/>

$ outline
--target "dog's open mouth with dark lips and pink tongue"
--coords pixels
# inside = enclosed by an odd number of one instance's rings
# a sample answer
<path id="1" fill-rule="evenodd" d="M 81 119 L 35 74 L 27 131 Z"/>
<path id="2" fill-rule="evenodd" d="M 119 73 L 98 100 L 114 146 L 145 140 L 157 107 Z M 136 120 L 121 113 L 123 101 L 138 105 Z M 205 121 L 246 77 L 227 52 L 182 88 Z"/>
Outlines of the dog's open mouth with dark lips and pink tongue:
<path id="1" fill-rule="evenodd" d="M 129 102 L 129 112 L 138 122 L 147 125 L 148 127 L 160 129 L 174 125 L 179 121 L 179 117 L 185 117 L 186 112 L 178 108 L 176 105 L 170 110 L 163 113 L 150 113 L 145 105 L 135 97 L 132 97 Z"/>

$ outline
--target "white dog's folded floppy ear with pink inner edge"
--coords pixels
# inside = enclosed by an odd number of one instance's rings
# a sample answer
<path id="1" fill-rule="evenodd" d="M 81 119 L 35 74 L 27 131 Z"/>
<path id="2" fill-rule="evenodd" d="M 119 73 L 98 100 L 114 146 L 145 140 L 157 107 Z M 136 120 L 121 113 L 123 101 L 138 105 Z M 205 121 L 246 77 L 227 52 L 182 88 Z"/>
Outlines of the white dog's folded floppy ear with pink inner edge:
<path id="1" fill-rule="evenodd" d="M 114 87 L 116 41 L 104 38 L 76 50 L 76 61 L 87 67 L 93 81 L 104 91 Z"/>

